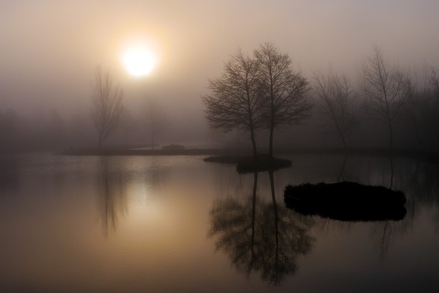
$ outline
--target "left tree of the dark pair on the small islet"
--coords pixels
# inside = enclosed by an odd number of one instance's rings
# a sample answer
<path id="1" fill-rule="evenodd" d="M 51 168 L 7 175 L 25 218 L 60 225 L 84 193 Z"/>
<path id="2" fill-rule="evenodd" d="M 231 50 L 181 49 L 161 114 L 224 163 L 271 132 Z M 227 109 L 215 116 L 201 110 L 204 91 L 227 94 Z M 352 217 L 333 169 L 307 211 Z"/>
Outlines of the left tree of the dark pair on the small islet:
<path id="1" fill-rule="evenodd" d="M 253 155 L 257 156 L 254 131 L 261 126 L 258 64 L 241 49 L 225 63 L 221 77 L 209 80 L 211 95 L 202 96 L 211 128 L 250 131 Z"/>

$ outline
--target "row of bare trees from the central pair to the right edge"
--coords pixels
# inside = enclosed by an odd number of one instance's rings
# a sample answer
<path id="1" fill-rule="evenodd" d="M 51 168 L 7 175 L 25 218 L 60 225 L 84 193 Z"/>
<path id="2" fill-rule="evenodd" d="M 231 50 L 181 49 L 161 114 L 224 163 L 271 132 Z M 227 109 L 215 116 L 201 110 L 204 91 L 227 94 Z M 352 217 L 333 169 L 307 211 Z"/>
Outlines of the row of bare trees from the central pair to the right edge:
<path id="1" fill-rule="evenodd" d="M 434 149 L 439 143 L 438 71 L 426 69 L 421 80 L 388 62 L 377 45 L 361 67 L 357 86 L 345 73 L 331 69 L 307 79 L 292 68 L 287 54 L 264 43 L 252 56 L 241 49 L 230 56 L 222 75 L 209 79 L 211 93 L 201 99 L 211 128 L 250 133 L 255 157 L 257 129 L 269 130 L 272 156 L 274 129 L 304 123 L 311 113 L 327 120 L 329 132 L 348 148 L 347 137 L 359 125 L 359 108 L 387 128 L 390 150 L 399 117 L 413 128 L 420 147 Z"/>

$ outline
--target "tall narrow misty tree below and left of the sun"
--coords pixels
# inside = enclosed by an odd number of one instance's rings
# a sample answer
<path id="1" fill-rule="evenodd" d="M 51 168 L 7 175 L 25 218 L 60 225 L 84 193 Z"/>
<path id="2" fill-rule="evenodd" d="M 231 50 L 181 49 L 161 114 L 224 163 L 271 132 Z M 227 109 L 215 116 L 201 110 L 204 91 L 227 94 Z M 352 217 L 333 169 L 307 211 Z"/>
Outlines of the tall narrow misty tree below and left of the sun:
<path id="1" fill-rule="evenodd" d="M 98 67 L 92 84 L 91 108 L 91 118 L 99 133 L 97 148 L 117 128 L 123 111 L 122 99 L 123 91 L 119 85 L 113 84 L 110 71 L 102 71 Z"/>

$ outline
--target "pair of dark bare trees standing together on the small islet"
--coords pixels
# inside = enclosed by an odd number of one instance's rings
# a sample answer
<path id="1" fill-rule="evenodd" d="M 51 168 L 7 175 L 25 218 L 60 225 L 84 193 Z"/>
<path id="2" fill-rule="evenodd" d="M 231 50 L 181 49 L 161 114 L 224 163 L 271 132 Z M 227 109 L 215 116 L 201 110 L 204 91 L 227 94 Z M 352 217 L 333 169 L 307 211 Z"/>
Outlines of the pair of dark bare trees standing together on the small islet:
<path id="1" fill-rule="evenodd" d="M 272 43 L 261 45 L 252 57 L 238 49 L 221 77 L 209 80 L 209 89 L 211 94 L 202 96 L 202 101 L 210 126 L 225 132 L 249 130 L 254 156 L 257 128 L 270 130 L 272 156 L 274 128 L 298 124 L 310 115 L 306 78 L 292 69 L 288 54 Z"/>

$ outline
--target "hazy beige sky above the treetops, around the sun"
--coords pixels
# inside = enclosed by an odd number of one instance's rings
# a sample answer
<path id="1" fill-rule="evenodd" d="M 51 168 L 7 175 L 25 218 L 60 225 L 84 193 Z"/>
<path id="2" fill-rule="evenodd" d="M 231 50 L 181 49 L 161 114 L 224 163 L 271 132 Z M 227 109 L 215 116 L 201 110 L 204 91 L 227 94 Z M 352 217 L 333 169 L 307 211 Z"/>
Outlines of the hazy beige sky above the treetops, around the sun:
<path id="1" fill-rule="evenodd" d="M 207 78 L 237 47 L 251 53 L 268 40 L 305 75 L 329 65 L 351 71 L 374 43 L 401 65 L 439 67 L 438 15 L 438 0 L 1 0 L 0 110 L 86 108 L 102 65 L 130 105 L 153 96 L 202 115 Z M 139 39 L 160 60 L 133 78 L 120 54 Z"/>

